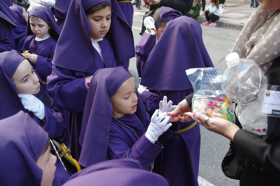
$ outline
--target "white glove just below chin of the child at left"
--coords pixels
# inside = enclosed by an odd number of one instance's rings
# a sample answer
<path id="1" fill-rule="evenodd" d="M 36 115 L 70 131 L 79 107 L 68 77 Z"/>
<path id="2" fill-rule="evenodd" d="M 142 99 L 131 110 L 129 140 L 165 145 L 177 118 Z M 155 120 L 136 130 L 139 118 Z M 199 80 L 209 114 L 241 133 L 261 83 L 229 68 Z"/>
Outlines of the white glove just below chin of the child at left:
<path id="1" fill-rule="evenodd" d="M 34 113 L 39 119 L 43 119 L 45 115 L 44 104 L 41 100 L 32 94 L 18 94 L 24 108 Z"/>

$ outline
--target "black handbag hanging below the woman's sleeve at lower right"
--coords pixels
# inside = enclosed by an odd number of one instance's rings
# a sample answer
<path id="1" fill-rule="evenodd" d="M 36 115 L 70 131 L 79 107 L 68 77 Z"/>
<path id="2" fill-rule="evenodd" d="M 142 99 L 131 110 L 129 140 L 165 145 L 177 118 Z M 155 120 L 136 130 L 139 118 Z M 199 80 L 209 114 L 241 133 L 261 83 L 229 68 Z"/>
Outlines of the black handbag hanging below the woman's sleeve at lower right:
<path id="1" fill-rule="evenodd" d="M 222 161 L 222 171 L 226 177 L 238 180 L 240 180 L 244 171 L 244 167 L 237 164 L 236 153 L 232 141 L 230 142 L 230 148 Z"/>

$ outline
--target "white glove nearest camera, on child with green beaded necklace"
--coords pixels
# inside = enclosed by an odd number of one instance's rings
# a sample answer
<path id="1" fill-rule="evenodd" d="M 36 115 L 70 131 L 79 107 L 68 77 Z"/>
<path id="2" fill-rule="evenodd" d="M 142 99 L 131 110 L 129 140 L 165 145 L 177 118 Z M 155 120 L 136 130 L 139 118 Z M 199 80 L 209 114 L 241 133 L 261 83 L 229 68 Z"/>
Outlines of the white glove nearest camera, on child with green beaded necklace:
<path id="1" fill-rule="evenodd" d="M 155 143 L 158 137 L 167 131 L 170 126 L 172 126 L 172 124 L 169 123 L 171 117 L 166 117 L 167 113 L 162 113 L 158 117 L 157 114 L 158 109 L 156 109 L 156 111 L 153 113 L 151 117 L 151 123 L 145 133 L 146 138 L 148 138 L 152 143 Z M 164 117 L 166 118 L 161 122 Z"/>

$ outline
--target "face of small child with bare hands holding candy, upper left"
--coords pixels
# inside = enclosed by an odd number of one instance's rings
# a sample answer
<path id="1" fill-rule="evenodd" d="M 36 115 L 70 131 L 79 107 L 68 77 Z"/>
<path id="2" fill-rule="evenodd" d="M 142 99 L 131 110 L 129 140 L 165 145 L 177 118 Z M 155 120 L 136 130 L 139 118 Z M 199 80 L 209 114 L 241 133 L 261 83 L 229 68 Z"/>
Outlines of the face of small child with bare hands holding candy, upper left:
<path id="1" fill-rule="evenodd" d="M 31 31 L 36 37 L 44 39 L 49 36 L 49 29 L 52 27 L 48 25 L 44 20 L 40 18 L 29 18 Z"/>

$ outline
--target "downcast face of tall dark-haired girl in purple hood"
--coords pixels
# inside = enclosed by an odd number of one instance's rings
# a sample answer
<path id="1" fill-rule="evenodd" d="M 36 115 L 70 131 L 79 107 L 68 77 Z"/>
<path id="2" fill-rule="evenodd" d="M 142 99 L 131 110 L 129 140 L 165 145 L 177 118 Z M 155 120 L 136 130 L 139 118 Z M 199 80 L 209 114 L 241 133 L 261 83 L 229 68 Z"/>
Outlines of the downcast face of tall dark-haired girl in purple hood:
<path id="1" fill-rule="evenodd" d="M 106 6 L 86 16 L 91 24 L 91 38 L 98 39 L 105 37 L 110 29 L 111 15 L 111 7 Z"/>

